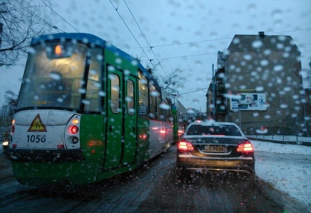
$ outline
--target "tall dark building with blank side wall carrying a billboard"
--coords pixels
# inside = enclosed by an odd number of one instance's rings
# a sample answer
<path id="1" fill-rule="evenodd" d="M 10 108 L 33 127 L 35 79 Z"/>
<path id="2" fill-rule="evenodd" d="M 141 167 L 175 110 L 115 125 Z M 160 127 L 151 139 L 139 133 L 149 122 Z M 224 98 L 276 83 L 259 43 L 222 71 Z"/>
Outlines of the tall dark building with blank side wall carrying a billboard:
<path id="1" fill-rule="evenodd" d="M 235 35 L 218 52 L 207 113 L 249 135 L 306 134 L 300 52 L 291 36 Z M 214 88 L 214 89 L 212 89 Z"/>

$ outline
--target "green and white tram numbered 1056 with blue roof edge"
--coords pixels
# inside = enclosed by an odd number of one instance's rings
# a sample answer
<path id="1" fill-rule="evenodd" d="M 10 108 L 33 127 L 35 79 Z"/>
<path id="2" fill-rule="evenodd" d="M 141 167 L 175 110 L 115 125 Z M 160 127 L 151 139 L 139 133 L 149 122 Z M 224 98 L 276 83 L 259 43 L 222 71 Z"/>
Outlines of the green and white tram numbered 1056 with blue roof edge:
<path id="1" fill-rule="evenodd" d="M 21 184 L 100 181 L 171 146 L 171 106 L 137 59 L 103 39 L 34 37 L 6 156 Z"/>

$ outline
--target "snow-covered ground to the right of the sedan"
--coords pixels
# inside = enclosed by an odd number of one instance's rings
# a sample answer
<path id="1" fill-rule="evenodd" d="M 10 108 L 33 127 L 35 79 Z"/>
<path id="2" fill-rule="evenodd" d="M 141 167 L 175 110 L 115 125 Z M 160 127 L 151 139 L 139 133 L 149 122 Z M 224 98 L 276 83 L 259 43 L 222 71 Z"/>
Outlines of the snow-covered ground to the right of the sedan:
<path id="1" fill-rule="evenodd" d="M 288 137 L 288 136 L 287 136 Z M 295 141 L 296 137 L 286 140 Z M 311 142 L 311 138 L 299 138 L 299 141 Z M 287 193 L 311 208 L 311 146 L 279 144 L 251 140 L 255 148 L 256 175 L 271 183 L 276 189 Z M 256 157 L 256 152 L 300 155 L 299 161 L 267 160 Z M 259 155 L 259 154 L 258 154 Z M 269 158 L 269 156 L 268 156 Z"/>

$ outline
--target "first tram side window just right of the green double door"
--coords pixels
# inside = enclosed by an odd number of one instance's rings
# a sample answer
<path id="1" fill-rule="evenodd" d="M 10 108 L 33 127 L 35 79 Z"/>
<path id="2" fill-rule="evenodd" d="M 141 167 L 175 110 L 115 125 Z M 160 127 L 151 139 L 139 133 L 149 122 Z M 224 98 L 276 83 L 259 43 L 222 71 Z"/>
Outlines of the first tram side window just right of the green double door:
<path id="1" fill-rule="evenodd" d="M 139 116 L 149 118 L 148 115 L 148 81 L 141 71 L 138 72 L 138 97 L 139 97 Z"/>

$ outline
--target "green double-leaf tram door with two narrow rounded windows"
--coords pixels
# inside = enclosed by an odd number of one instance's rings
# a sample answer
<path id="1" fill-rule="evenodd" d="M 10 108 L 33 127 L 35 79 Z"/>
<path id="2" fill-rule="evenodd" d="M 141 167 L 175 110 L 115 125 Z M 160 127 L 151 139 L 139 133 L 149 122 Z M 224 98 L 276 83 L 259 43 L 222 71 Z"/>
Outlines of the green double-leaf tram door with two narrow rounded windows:
<path id="1" fill-rule="evenodd" d="M 134 163 L 137 146 L 136 78 L 115 70 L 108 77 L 108 117 L 104 169 Z"/>

